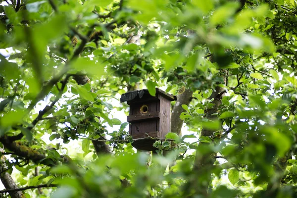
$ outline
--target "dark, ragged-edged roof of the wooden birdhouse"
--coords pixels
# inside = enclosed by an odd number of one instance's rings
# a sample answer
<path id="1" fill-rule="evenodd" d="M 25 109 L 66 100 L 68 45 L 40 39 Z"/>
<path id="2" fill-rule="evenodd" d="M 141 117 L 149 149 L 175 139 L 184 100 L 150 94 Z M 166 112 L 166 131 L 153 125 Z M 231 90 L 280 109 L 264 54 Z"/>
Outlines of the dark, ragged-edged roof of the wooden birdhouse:
<path id="1" fill-rule="evenodd" d="M 167 94 L 163 90 L 156 88 L 156 96 L 155 97 L 151 96 L 148 93 L 148 89 L 135 90 L 132 92 L 127 92 L 125 94 L 122 94 L 121 102 L 132 102 L 134 100 L 139 100 L 139 99 L 148 99 L 148 97 L 151 97 L 151 99 L 157 99 L 158 95 L 161 95 L 170 101 L 176 100 L 176 96 L 173 96 L 172 94 Z"/>

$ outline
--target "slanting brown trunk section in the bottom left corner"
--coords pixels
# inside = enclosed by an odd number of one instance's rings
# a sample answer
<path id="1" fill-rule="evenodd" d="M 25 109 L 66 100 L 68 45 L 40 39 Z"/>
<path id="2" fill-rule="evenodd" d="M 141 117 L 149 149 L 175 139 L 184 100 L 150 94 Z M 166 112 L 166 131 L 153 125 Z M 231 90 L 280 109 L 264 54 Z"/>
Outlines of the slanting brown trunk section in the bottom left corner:
<path id="1" fill-rule="evenodd" d="M 0 148 L 0 152 L 4 152 L 2 148 Z M 13 181 L 11 175 L 7 172 L 7 165 L 6 165 L 6 158 L 5 156 L 1 156 L 0 158 L 0 179 L 2 184 L 4 185 L 5 189 L 17 189 L 17 185 Z M 25 198 L 21 191 L 17 192 L 10 192 L 9 193 L 11 198 Z"/>

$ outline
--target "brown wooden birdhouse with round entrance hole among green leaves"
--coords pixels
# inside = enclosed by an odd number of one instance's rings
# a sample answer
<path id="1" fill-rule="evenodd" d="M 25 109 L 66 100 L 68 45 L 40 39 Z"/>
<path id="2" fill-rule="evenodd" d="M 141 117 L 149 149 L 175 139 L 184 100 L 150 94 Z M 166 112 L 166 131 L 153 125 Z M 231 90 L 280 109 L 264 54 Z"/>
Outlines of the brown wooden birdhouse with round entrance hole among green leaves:
<path id="1" fill-rule="evenodd" d="M 155 150 L 151 138 L 164 139 L 170 132 L 170 101 L 176 96 L 156 88 L 156 95 L 151 96 L 148 90 L 127 92 L 121 96 L 121 102 L 130 106 L 127 122 L 129 134 L 134 141 L 132 146 L 140 150 Z"/>

